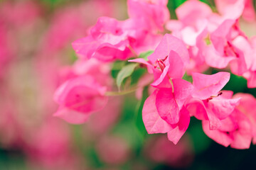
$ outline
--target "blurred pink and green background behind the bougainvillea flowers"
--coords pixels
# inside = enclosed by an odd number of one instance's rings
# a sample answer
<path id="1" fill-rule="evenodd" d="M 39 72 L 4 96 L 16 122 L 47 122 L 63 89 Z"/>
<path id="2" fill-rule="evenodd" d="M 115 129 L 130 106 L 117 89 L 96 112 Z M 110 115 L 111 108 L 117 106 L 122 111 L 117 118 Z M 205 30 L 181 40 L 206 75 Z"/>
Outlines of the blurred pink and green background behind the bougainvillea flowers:
<path id="1" fill-rule="evenodd" d="M 183 1 L 169 0 L 171 18 Z M 215 10 L 214 1 L 203 2 Z M 196 118 L 178 145 L 166 135 L 148 135 L 144 95 L 142 101 L 134 94 L 111 98 L 84 125 L 53 117 L 53 93 L 77 59 L 71 43 L 100 16 L 126 19 L 126 1 L 0 0 L 0 169 L 255 169 L 255 146 L 218 145 Z M 256 21 L 240 25 L 256 35 Z M 112 77 L 118 71 L 114 66 Z M 143 72 L 137 70 L 134 79 Z M 234 74 L 225 89 L 256 96 Z"/>

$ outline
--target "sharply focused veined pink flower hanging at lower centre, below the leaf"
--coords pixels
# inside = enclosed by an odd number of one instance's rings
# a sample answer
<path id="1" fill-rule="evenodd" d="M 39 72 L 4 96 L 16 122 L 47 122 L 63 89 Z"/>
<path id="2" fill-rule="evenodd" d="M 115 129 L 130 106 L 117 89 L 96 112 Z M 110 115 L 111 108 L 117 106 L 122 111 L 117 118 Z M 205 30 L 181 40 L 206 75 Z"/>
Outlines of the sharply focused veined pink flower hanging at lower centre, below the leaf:
<path id="1" fill-rule="evenodd" d="M 173 79 L 173 84 L 174 92 L 171 88 L 161 88 L 146 99 L 142 118 L 149 134 L 168 132 L 169 140 L 176 144 L 188 128 L 190 116 L 183 104 L 193 86 L 183 79 Z"/>

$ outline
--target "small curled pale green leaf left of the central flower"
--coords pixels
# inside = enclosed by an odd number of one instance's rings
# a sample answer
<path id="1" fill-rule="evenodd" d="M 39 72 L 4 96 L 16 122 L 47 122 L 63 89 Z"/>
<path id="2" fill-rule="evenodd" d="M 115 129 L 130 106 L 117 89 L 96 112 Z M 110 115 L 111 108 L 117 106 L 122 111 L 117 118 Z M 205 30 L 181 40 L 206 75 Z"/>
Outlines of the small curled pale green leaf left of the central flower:
<path id="1" fill-rule="evenodd" d="M 122 81 L 124 81 L 125 78 L 132 75 L 132 72 L 134 72 L 135 67 L 137 67 L 137 63 L 128 64 L 120 70 L 120 72 L 117 74 L 117 86 L 120 88 Z"/>

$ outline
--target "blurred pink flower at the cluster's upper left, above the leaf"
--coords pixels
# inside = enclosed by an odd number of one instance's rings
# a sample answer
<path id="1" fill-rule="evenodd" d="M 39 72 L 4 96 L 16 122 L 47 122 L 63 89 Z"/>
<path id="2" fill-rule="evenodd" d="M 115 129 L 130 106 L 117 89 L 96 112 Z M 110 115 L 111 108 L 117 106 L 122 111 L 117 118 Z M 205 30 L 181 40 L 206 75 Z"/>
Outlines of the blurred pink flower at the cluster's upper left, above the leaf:
<path id="1" fill-rule="evenodd" d="M 73 48 L 82 58 L 95 57 L 102 61 L 125 60 L 130 55 L 129 41 L 122 30 L 122 22 L 101 17 L 91 28 L 90 35 L 73 42 Z"/>

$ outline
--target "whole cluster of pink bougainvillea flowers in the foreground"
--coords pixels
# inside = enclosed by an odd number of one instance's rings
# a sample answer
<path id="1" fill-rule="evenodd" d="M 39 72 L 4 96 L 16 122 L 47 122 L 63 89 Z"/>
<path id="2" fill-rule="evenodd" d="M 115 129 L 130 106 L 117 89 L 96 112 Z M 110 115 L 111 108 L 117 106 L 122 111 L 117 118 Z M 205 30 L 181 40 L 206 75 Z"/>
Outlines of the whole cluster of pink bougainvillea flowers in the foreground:
<path id="1" fill-rule="evenodd" d="M 255 18 L 247 11 L 252 10 L 252 1 L 216 0 L 219 13 L 215 13 L 201 1 L 188 0 L 176 8 L 178 20 L 170 19 L 167 3 L 128 0 L 127 20 L 100 17 L 85 38 L 73 42 L 79 59 L 55 91 L 60 106 L 55 115 L 84 123 L 91 113 L 104 108 L 114 90 L 110 62 L 128 60 L 152 75 L 142 111 L 149 134 L 167 133 L 176 144 L 194 116 L 202 120 L 206 135 L 221 145 L 249 148 L 252 140 L 256 142 L 252 109 L 256 99 L 221 91 L 229 72 L 202 72 L 210 67 L 223 69 L 245 77 L 248 87 L 256 87 L 256 37 L 248 38 L 239 25 L 241 16 L 249 21 Z M 149 50 L 154 52 L 147 58 L 139 57 Z M 92 69 L 95 64 L 97 69 Z M 193 83 L 183 79 L 185 73 Z"/>

